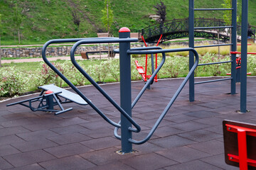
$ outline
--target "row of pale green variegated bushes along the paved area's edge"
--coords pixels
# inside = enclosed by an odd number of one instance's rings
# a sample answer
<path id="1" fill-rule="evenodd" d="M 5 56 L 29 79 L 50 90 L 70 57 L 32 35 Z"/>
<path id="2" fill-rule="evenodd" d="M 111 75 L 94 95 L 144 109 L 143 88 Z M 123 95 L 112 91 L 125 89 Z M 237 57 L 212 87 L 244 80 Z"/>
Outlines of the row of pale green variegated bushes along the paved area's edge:
<path id="1" fill-rule="evenodd" d="M 170 53 L 172 55 L 172 53 Z M 148 74 L 151 74 L 151 57 L 148 57 Z M 161 62 L 161 55 L 158 57 L 158 65 Z M 199 57 L 199 64 L 208 62 L 223 62 L 229 61 L 229 56 L 220 56 L 206 53 L 206 55 Z M 142 67 L 145 67 L 145 57 L 131 58 L 131 79 L 141 80 L 141 75 L 137 72 L 136 64 L 134 61 L 138 60 Z M 89 62 L 89 61 L 87 61 Z M 99 62 L 90 61 L 89 66 L 85 66 L 85 62 L 78 61 L 80 66 L 92 77 L 95 81 L 104 82 L 107 81 L 119 81 L 119 60 L 101 60 Z M 82 64 L 84 63 L 84 64 Z M 75 86 L 83 86 L 89 84 L 87 79 L 74 67 L 70 61 L 55 62 L 53 63 L 60 72 L 67 77 Z M 256 74 L 256 57 L 248 55 L 247 58 L 247 70 L 252 72 L 252 75 Z M 227 64 L 212 64 L 206 66 L 200 66 L 196 68 L 196 76 L 225 76 L 230 72 L 230 63 Z M 158 73 L 159 78 L 168 77 L 184 77 L 188 74 L 188 57 L 166 57 L 164 66 Z M 56 84 L 57 86 L 68 86 L 60 77 L 53 72 L 46 64 L 41 64 L 41 69 L 37 69 L 34 72 L 25 72 L 21 69 L 14 67 L 1 67 L 0 68 L 0 96 L 15 96 L 23 94 L 26 91 L 37 89 L 38 86 L 44 84 Z"/>

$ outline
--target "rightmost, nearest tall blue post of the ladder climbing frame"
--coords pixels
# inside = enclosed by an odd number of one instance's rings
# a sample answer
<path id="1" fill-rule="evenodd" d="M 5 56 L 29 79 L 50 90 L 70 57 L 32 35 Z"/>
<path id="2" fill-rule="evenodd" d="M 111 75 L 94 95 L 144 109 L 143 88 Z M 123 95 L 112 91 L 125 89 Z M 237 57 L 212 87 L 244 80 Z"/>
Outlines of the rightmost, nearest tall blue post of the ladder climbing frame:
<path id="1" fill-rule="evenodd" d="M 240 112 L 246 113 L 248 0 L 242 1 Z"/>

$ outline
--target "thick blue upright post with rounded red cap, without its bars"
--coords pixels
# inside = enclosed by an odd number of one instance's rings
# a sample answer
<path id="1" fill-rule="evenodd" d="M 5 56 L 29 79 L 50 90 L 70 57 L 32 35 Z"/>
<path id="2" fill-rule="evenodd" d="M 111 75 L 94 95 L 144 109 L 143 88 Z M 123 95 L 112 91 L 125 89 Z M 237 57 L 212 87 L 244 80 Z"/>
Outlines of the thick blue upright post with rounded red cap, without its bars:
<path id="1" fill-rule="evenodd" d="M 119 30 L 119 38 L 129 38 L 129 28 L 121 28 Z M 130 42 L 119 43 L 119 64 L 120 64 L 120 103 L 121 107 L 132 117 L 132 87 L 131 87 L 131 58 L 127 54 L 130 49 Z M 122 153 L 132 152 L 132 132 L 129 128 L 132 127 L 127 118 L 121 115 L 121 143 Z"/>

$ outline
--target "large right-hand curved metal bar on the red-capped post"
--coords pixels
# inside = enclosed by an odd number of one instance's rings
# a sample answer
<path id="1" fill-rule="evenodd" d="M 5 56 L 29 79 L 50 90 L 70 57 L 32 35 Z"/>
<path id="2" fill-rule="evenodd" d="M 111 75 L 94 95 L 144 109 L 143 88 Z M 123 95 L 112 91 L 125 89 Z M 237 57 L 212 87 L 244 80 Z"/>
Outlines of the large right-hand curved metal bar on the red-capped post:
<path id="1" fill-rule="evenodd" d="M 164 116 L 166 115 L 166 113 L 169 111 L 169 109 L 171 108 L 172 104 L 174 103 L 174 101 L 176 100 L 176 98 L 178 97 L 178 94 L 181 93 L 181 90 L 183 89 L 183 87 L 186 85 L 186 82 L 188 81 L 189 77 L 191 77 L 191 75 L 193 75 L 194 70 L 196 69 L 197 65 L 198 65 L 198 53 L 196 52 L 196 50 L 194 50 L 191 47 L 188 48 L 180 48 L 180 49 L 169 49 L 169 50 L 152 50 L 152 53 L 159 53 L 159 52 L 180 52 L 180 51 L 191 51 L 194 53 L 194 55 L 196 56 L 196 61 L 193 64 L 193 67 L 191 68 L 191 70 L 188 72 L 188 75 L 186 76 L 186 78 L 183 80 L 183 82 L 181 83 L 181 86 L 178 87 L 178 90 L 176 91 L 176 93 L 174 94 L 174 96 L 171 98 L 171 101 L 168 103 L 168 105 L 166 106 L 166 108 L 164 109 L 163 113 L 161 113 L 160 117 L 158 120 L 156 120 L 156 123 L 154 124 L 153 128 L 151 128 L 149 134 L 144 138 L 144 140 L 132 140 L 129 139 L 129 142 L 132 142 L 133 144 L 137 144 L 137 145 L 141 145 L 144 142 L 148 141 L 150 139 L 150 137 L 153 135 L 154 131 L 156 130 L 156 128 L 159 126 L 159 124 L 161 123 L 161 120 L 163 120 Z M 139 51 L 130 51 L 131 53 L 136 53 L 136 54 L 143 54 L 144 52 L 139 52 Z M 146 51 L 149 52 L 149 51 Z M 117 128 L 116 128 L 117 129 Z"/>

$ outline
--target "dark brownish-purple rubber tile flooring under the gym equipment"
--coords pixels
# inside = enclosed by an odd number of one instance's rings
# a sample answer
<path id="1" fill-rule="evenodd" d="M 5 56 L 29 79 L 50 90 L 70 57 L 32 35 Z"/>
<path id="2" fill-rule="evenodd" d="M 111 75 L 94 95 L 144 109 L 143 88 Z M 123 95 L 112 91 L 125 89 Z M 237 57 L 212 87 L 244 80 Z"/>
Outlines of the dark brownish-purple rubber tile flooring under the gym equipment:
<path id="1" fill-rule="evenodd" d="M 213 78 L 205 78 L 208 80 Z M 202 79 L 196 79 L 201 81 Z M 132 110 L 143 140 L 156 123 L 183 79 L 164 79 L 151 85 Z M 132 154 L 117 154 L 121 141 L 114 127 L 90 106 L 63 104 L 73 110 L 60 115 L 33 112 L 21 105 L 6 104 L 35 97 L 14 98 L 0 103 L 0 169 L 239 169 L 225 164 L 225 119 L 256 124 L 256 78 L 247 79 L 247 113 L 240 109 L 240 84 L 230 95 L 230 81 L 195 86 L 195 101 L 188 101 L 188 85 L 181 91 L 148 142 L 133 145 Z M 144 82 L 132 82 L 134 99 Z M 119 103 L 119 84 L 102 84 Z M 79 88 L 115 123 L 120 113 L 93 86 Z M 72 90 L 70 90 L 72 91 Z M 120 131 L 120 130 L 119 130 Z M 118 131 L 118 134 L 120 132 Z"/>

